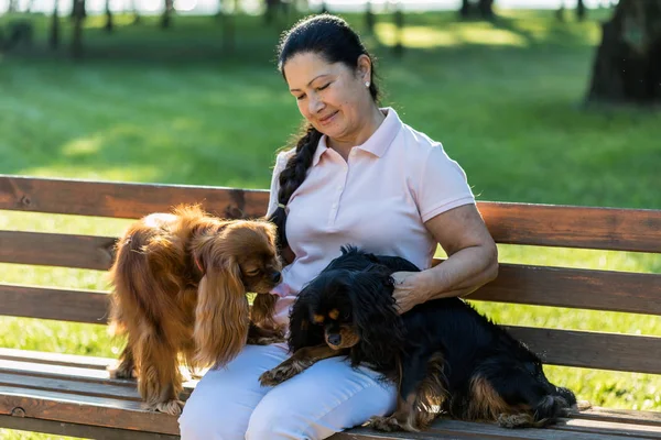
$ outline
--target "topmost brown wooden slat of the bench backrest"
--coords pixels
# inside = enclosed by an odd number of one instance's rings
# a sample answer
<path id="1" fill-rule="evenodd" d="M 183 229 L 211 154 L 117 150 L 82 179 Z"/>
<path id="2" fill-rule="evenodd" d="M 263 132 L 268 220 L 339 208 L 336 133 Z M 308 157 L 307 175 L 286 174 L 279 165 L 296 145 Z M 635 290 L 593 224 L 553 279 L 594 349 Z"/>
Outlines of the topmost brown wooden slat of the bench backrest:
<path id="1" fill-rule="evenodd" d="M 182 202 L 227 218 L 259 217 L 267 190 L 0 175 L 0 209 L 137 219 Z M 661 210 L 479 201 L 498 243 L 661 253 Z"/>

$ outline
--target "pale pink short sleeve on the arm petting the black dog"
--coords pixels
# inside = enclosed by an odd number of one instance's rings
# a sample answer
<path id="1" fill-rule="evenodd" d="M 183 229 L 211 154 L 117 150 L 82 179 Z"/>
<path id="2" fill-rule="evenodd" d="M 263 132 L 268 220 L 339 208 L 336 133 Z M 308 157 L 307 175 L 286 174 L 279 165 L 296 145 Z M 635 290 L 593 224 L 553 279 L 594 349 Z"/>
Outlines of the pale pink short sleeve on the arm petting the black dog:
<path id="1" fill-rule="evenodd" d="M 475 204 L 466 173 L 449 158 L 440 143 L 430 148 L 422 166 L 416 196 L 423 222 L 453 208 Z"/>

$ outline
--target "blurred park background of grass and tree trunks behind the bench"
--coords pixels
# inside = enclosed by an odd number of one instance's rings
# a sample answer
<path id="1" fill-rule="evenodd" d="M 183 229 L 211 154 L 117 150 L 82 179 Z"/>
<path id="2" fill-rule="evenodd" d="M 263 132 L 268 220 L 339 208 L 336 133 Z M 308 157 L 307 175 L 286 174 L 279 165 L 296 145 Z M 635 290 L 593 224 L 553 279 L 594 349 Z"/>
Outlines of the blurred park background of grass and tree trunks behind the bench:
<path id="1" fill-rule="evenodd" d="M 383 106 L 478 200 L 661 209 L 661 0 L 0 0 L 0 174 L 268 188 L 301 123 L 280 34 L 323 10 L 377 57 Z M 0 211 L 0 229 L 122 220 Z M 500 245 L 500 261 L 661 273 L 659 256 Z M 0 282 L 108 289 L 0 264 Z M 476 302 L 501 323 L 661 337 L 661 318 Z M 0 346 L 117 356 L 102 326 L 0 317 Z M 582 399 L 661 410 L 661 377 L 548 366 Z M 46 439 L 0 429 L 2 439 Z"/>

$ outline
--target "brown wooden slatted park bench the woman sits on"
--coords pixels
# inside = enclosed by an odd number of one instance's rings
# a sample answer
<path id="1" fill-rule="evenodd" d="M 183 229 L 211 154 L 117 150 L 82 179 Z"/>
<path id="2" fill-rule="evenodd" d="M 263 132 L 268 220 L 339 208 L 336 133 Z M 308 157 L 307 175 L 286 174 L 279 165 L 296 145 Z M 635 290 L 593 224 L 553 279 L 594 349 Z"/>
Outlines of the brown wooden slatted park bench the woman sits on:
<path id="1" fill-rule="evenodd" d="M 0 209 L 137 219 L 202 201 L 230 218 L 263 215 L 264 190 L 0 176 Z M 661 211 L 480 202 L 498 243 L 661 253 Z M 89 219 L 89 221 L 94 221 Z M 106 271 L 115 237 L 0 231 L 0 262 Z M 661 274 L 501 264 L 470 299 L 661 315 Z M 105 324 L 107 294 L 0 284 L 0 315 Z M 661 374 L 661 338 L 510 327 L 548 364 Z M 113 360 L 0 349 L 0 427 L 101 439 L 175 439 L 174 417 L 140 409 L 134 383 L 109 380 Z M 187 384 L 187 393 L 194 386 Z M 661 413 L 593 408 L 550 429 L 505 430 L 438 420 L 430 432 L 364 428 L 334 439 L 661 438 Z"/>

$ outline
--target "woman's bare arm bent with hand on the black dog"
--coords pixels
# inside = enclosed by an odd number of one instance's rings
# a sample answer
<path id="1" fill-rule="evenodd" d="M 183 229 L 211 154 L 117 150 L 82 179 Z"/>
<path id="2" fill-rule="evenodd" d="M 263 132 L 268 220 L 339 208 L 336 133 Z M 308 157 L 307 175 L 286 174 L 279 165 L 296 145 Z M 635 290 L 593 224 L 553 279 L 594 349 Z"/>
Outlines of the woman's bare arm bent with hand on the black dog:
<path id="1" fill-rule="evenodd" d="M 448 257 L 426 271 L 392 275 L 402 314 L 430 299 L 468 295 L 498 275 L 498 249 L 475 205 L 451 209 L 424 224 Z"/>

